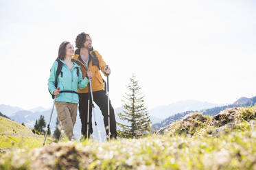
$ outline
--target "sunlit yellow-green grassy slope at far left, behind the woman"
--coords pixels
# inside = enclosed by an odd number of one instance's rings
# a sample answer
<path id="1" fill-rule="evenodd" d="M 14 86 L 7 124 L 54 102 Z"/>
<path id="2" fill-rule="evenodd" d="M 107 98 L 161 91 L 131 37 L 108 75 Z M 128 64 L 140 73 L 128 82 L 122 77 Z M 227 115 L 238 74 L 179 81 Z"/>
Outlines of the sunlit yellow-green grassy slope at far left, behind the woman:
<path id="1" fill-rule="evenodd" d="M 30 128 L 5 117 L 0 117 L 0 153 L 8 149 L 32 149 L 43 145 L 44 136 L 36 135 Z M 47 143 L 51 143 L 48 138 Z"/>

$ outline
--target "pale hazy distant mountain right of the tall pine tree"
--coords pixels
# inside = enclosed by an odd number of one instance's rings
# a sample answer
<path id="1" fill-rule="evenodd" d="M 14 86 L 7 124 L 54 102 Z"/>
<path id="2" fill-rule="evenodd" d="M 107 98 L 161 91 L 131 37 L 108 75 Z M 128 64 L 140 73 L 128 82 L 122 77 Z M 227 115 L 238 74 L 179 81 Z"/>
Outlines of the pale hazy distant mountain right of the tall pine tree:
<path id="1" fill-rule="evenodd" d="M 159 106 L 150 110 L 150 115 L 159 119 L 166 119 L 178 112 L 186 112 L 187 110 L 203 110 L 219 106 L 218 104 L 211 104 L 205 101 L 186 100 L 177 101 L 167 106 Z"/>

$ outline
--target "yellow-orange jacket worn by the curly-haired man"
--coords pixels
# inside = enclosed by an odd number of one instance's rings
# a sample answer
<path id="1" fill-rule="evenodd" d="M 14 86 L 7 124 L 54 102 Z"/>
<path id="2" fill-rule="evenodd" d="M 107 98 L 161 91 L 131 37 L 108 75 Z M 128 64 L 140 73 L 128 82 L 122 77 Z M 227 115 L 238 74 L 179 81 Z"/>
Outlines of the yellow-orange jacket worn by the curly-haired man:
<path id="1" fill-rule="evenodd" d="M 79 49 L 75 50 L 75 56 L 73 56 L 72 59 L 75 60 L 75 62 L 80 65 L 80 69 L 82 71 L 82 77 L 84 78 L 86 76 L 86 72 L 88 69 L 86 65 L 84 65 L 84 62 L 82 62 Z M 91 80 L 91 84 L 92 84 L 91 86 L 93 91 L 104 90 L 104 82 L 102 80 L 102 75 L 100 74 L 100 70 L 106 76 L 106 74 L 104 73 L 106 62 L 104 62 L 102 56 L 96 50 L 92 50 L 89 52 L 88 61 L 89 61 L 88 67 L 91 70 L 91 73 L 93 73 L 93 78 Z M 85 88 L 82 88 L 82 89 L 78 88 L 78 93 L 88 93 L 88 87 L 89 86 L 86 86 Z"/>

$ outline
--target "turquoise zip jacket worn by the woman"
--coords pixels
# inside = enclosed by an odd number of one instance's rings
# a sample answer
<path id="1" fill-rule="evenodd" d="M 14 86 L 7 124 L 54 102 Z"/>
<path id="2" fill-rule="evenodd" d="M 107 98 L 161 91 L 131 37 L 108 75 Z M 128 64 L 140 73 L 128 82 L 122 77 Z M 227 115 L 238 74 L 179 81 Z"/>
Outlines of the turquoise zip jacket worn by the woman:
<path id="1" fill-rule="evenodd" d="M 65 64 L 63 60 L 60 60 L 62 64 L 62 74 L 58 75 L 58 87 L 60 87 L 60 91 L 62 90 L 73 90 L 75 92 L 78 92 L 78 88 L 82 89 L 87 86 L 89 83 L 89 80 L 84 77 L 82 79 L 82 72 L 80 69 L 80 66 L 73 62 L 73 68 L 71 71 L 69 70 L 69 67 Z M 48 88 L 51 94 L 54 93 L 54 90 L 56 87 L 55 84 L 55 77 L 56 77 L 56 71 L 58 67 L 58 62 L 54 62 L 53 66 L 51 67 L 51 73 L 48 80 Z M 79 77 L 77 74 L 77 68 L 79 69 Z M 73 104 L 78 104 L 79 97 L 76 93 L 60 93 L 58 97 L 56 98 L 56 101 L 64 101 L 64 102 L 70 102 Z"/>

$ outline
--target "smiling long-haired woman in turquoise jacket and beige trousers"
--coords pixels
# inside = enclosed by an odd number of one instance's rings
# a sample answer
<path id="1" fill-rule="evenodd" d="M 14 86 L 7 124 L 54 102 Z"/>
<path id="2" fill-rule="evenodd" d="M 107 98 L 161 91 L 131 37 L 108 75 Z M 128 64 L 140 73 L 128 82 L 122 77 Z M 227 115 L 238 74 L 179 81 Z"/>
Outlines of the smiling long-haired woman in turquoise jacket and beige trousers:
<path id="1" fill-rule="evenodd" d="M 62 42 L 58 50 L 58 58 L 51 67 L 48 80 L 49 91 L 56 97 L 55 106 L 58 120 L 61 121 L 65 136 L 69 140 L 73 136 L 73 127 L 78 110 L 78 88 L 85 88 L 89 83 L 87 77 L 82 78 L 80 66 L 71 60 L 73 55 L 74 49 L 71 43 L 68 41 Z M 58 71 L 60 74 L 56 76 L 57 69 L 59 68 L 61 68 Z M 91 79 L 93 76 L 91 71 L 87 71 L 86 73 Z M 60 139 L 63 138 L 64 136 L 61 134 Z"/>

